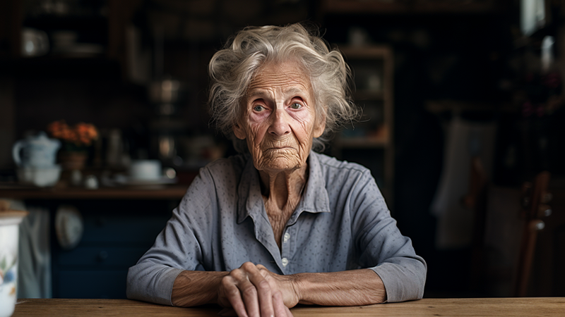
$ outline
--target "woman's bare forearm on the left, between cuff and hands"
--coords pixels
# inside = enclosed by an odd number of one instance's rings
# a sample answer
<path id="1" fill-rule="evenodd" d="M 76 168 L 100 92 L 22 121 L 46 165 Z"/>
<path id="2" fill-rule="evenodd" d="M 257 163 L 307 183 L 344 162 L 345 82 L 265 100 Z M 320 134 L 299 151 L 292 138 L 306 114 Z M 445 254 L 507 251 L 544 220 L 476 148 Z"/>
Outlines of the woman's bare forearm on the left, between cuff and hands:
<path id="1" fill-rule="evenodd" d="M 171 302 L 174 306 L 198 306 L 218 302 L 218 287 L 229 272 L 182 271 L 174 280 Z"/>

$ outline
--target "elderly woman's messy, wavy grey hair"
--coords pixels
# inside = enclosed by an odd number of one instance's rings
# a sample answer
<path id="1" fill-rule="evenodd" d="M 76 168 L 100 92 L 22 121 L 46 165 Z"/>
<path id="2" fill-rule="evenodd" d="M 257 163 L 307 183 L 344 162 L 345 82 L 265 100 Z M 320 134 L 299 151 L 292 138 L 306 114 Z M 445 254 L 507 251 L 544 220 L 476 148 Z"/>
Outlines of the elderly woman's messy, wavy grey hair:
<path id="1" fill-rule="evenodd" d="M 234 148 L 248 151 L 245 140 L 232 127 L 242 116 L 240 101 L 261 66 L 270 62 L 297 61 L 309 74 L 314 90 L 316 120 L 326 119 L 326 130 L 314 139 L 312 149 L 323 151 L 328 136 L 343 123 L 356 120 L 359 109 L 350 93 L 351 70 L 337 49 L 329 49 L 319 31 L 301 24 L 284 27 L 246 27 L 210 60 L 210 114 L 216 127 L 232 139 Z"/>

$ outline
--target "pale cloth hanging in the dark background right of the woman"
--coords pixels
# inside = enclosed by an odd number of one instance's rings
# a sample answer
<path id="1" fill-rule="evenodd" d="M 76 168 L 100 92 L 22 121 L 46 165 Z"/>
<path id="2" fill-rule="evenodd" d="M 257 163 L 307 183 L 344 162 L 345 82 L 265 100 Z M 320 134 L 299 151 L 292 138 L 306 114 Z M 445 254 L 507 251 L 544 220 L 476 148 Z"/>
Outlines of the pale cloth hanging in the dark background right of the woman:
<path id="1" fill-rule="evenodd" d="M 444 168 L 430 210 L 437 218 L 436 248 L 458 249 L 472 241 L 473 212 L 461 198 L 468 192 L 472 157 L 479 156 L 487 177 L 492 175 L 496 123 L 477 123 L 456 116 L 446 131 Z"/>

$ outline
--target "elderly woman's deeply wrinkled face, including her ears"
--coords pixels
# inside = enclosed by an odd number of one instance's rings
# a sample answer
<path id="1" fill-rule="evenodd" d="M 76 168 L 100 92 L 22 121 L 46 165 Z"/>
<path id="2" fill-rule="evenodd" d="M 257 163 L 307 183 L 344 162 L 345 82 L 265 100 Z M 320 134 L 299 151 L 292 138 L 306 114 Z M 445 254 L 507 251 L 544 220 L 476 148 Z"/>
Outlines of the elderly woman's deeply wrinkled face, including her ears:
<path id="1" fill-rule="evenodd" d="M 258 70 L 234 125 L 258 170 L 278 173 L 305 166 L 312 140 L 325 128 L 324 120 L 316 120 L 315 106 L 309 76 L 297 63 L 270 63 Z"/>

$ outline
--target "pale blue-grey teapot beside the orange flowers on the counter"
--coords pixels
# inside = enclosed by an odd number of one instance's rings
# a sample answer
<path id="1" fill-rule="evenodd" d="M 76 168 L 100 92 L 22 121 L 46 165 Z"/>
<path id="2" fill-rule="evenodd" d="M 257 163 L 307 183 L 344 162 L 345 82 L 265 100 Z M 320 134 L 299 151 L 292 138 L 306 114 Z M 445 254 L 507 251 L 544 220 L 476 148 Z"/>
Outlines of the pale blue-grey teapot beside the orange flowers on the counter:
<path id="1" fill-rule="evenodd" d="M 49 139 L 45 132 L 39 132 L 13 144 L 12 156 L 17 166 L 48 168 L 55 165 L 59 147 L 58 139 Z"/>

